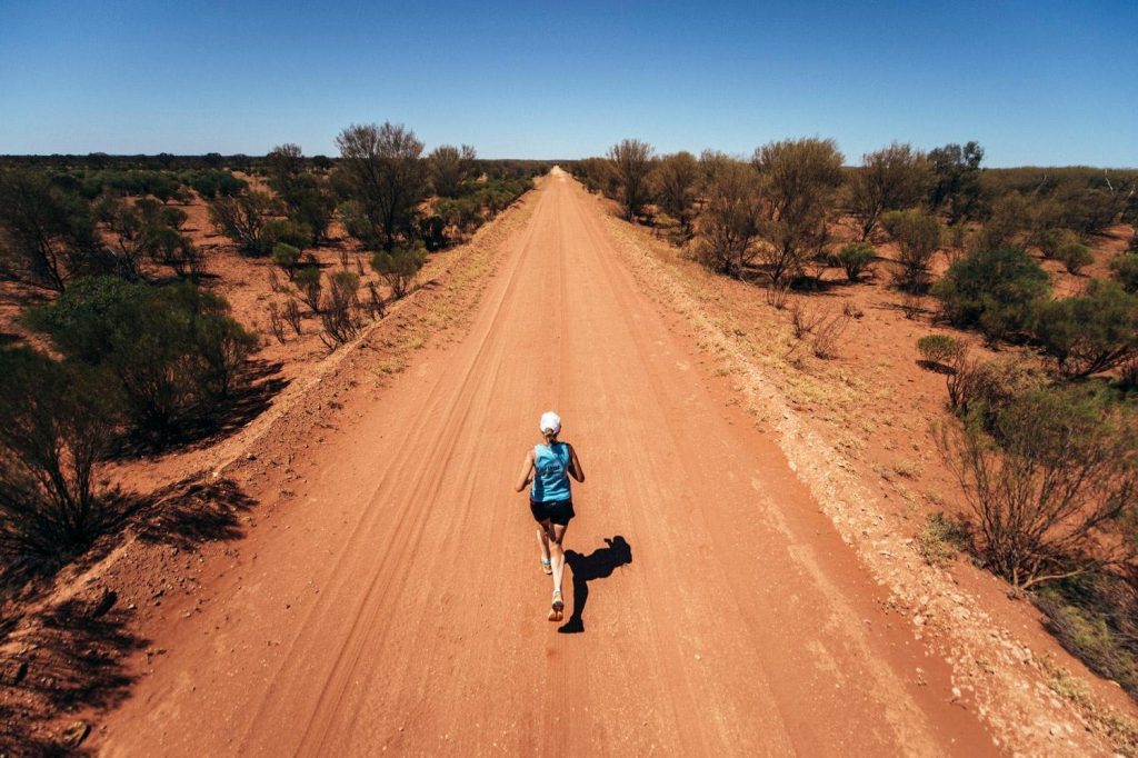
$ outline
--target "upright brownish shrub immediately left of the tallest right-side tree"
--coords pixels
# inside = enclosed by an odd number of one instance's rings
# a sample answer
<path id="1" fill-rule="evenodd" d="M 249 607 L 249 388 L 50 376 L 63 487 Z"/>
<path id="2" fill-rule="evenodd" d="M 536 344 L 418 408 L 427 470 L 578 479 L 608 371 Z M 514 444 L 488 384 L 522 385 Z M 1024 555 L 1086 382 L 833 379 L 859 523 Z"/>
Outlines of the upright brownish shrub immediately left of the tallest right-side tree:
<path id="1" fill-rule="evenodd" d="M 731 162 L 720 167 L 706 192 L 695 256 L 711 271 L 741 277 L 756 255 L 758 180 L 749 166 Z"/>

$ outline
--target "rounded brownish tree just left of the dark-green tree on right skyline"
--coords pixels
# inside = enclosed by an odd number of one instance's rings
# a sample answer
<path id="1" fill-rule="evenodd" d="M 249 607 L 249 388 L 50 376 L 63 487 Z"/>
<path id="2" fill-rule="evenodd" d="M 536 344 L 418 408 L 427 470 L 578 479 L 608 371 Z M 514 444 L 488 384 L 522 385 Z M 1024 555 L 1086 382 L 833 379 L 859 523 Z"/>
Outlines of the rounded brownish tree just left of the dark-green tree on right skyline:
<path id="1" fill-rule="evenodd" d="M 861 167 L 850 179 L 850 211 L 860 222 L 861 239 L 869 238 L 883 213 L 924 200 L 931 181 L 927 158 L 910 145 L 893 142 L 861 156 Z"/>

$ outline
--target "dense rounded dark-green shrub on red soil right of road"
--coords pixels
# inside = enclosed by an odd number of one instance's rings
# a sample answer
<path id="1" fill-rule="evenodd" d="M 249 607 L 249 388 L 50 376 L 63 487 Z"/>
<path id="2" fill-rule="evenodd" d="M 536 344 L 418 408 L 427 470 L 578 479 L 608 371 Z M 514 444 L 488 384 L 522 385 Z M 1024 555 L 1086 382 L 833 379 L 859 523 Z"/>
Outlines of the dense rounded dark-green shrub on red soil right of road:
<path id="1" fill-rule="evenodd" d="M 1050 282 L 1020 248 L 973 250 L 953 263 L 932 291 L 951 323 L 976 326 L 989 339 L 1000 339 L 1028 328 Z"/>

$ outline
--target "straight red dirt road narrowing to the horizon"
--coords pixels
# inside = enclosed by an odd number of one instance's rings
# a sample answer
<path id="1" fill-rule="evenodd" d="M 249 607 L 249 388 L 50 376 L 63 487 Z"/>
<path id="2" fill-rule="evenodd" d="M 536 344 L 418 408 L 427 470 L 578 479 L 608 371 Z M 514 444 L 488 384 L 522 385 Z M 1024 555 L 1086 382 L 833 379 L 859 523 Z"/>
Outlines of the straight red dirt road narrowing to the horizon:
<path id="1" fill-rule="evenodd" d="M 469 333 L 298 451 L 306 480 L 155 632 L 100 750 L 995 752 L 595 198 L 554 173 L 530 201 Z M 511 486 L 551 407 L 588 475 L 566 633 Z"/>

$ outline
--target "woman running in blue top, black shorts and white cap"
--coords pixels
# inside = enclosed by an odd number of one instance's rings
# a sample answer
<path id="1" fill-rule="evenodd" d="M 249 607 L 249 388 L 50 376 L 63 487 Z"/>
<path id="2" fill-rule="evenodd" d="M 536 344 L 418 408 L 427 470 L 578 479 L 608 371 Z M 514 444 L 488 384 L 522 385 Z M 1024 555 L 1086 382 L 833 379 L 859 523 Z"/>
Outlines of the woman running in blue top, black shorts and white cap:
<path id="1" fill-rule="evenodd" d="M 542 414 L 538 425 L 544 445 L 535 445 L 526 453 L 521 463 L 521 473 L 514 491 L 521 492 L 533 483 L 529 489 L 529 510 L 537 521 L 537 543 L 542 546 L 542 570 L 553 575 L 553 603 L 550 605 L 550 620 L 560 621 L 566 603 L 561 599 L 561 577 L 564 575 L 566 553 L 561 543 L 566 536 L 569 519 L 576 513 L 572 510 L 572 497 L 569 492 L 569 476 L 577 481 L 585 481 L 585 472 L 580 468 L 577 451 L 569 443 L 558 442 L 561 431 L 561 418 L 550 411 Z"/>

